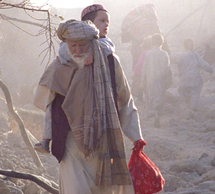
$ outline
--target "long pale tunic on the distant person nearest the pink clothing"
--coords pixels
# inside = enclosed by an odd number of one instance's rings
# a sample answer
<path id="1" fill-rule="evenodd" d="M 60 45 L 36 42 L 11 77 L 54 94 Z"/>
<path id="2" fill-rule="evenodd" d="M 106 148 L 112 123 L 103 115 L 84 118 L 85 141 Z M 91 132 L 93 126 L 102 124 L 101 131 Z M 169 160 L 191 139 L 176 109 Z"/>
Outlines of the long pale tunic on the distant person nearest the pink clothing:
<path id="1" fill-rule="evenodd" d="M 142 84 L 146 90 L 148 112 L 159 111 L 165 102 L 169 68 L 169 56 L 166 51 L 154 48 L 146 53 L 142 69 Z"/>

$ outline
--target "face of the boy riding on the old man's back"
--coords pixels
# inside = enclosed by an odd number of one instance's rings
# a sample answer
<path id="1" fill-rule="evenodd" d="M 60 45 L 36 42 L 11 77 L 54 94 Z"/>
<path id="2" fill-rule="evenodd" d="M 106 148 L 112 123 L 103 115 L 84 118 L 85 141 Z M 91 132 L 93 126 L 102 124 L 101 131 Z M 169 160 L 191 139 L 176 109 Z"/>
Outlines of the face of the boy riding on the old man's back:
<path id="1" fill-rule="evenodd" d="M 106 36 L 109 31 L 110 15 L 106 11 L 98 11 L 93 21 L 99 29 L 99 36 Z"/>

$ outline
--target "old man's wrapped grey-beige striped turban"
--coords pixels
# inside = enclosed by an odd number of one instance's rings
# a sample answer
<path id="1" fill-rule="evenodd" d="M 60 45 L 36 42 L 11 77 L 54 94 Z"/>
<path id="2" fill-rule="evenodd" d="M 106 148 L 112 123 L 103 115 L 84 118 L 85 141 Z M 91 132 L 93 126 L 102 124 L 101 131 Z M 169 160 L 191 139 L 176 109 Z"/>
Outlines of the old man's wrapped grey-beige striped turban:
<path id="1" fill-rule="evenodd" d="M 73 41 L 89 41 L 94 38 L 99 38 L 99 30 L 89 20 L 68 20 L 59 25 L 57 35 L 58 38 L 64 42 L 66 39 Z"/>

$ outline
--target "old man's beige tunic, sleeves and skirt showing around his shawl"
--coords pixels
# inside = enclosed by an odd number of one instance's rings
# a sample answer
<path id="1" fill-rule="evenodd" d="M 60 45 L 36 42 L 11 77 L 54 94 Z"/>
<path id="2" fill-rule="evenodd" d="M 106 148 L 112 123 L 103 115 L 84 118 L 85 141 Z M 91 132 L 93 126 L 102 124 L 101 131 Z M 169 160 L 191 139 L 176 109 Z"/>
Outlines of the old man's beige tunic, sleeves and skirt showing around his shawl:
<path id="1" fill-rule="evenodd" d="M 71 72 L 76 67 L 68 67 Z M 76 68 L 77 70 L 77 68 Z M 134 105 L 130 89 L 125 78 L 124 72 L 117 59 L 115 59 L 117 103 L 119 110 L 119 119 L 124 134 L 131 140 L 137 141 L 142 138 L 142 132 L 139 123 L 137 109 Z M 67 72 L 68 73 L 68 72 Z M 69 75 L 69 74 L 67 74 Z M 79 81 L 84 79 L 79 79 Z M 84 91 L 85 84 L 79 83 Z M 47 107 L 53 101 L 55 92 L 47 86 L 39 85 L 35 95 L 35 105 L 46 111 Z M 78 96 L 76 96 L 78 98 Z M 63 160 L 60 162 L 60 193 L 61 194 L 110 194 L 115 189 L 117 194 L 132 194 L 133 187 L 121 186 L 103 190 L 95 185 L 95 172 L 98 155 L 95 152 L 93 157 L 86 160 L 83 153 L 79 151 L 72 132 L 69 132 L 66 142 L 66 152 Z"/>

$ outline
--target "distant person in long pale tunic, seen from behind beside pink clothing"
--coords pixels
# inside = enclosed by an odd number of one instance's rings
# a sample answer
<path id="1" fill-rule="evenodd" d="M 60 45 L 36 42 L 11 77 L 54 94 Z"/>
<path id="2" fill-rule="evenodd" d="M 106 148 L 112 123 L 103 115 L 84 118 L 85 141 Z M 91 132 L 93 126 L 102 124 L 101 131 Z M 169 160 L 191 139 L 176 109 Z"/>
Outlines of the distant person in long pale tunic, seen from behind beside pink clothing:
<path id="1" fill-rule="evenodd" d="M 156 33 L 152 36 L 152 50 L 145 55 L 142 69 L 142 84 L 146 91 L 148 116 L 155 117 L 155 127 L 160 127 L 160 116 L 165 103 L 165 90 L 170 86 L 171 69 L 169 55 L 162 50 L 164 38 Z"/>

